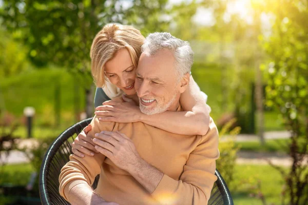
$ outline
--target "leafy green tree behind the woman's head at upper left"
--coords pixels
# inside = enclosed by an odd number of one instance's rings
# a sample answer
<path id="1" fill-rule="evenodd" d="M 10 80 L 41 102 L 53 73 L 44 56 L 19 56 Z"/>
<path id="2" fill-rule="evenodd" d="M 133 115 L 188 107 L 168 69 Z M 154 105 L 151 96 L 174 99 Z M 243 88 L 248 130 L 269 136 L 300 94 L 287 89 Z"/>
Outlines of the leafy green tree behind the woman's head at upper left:
<path id="1" fill-rule="evenodd" d="M 35 65 L 63 66 L 76 76 L 76 84 L 83 85 L 87 96 L 87 116 L 92 116 L 89 50 L 93 37 L 112 22 L 159 31 L 168 24 L 159 18 L 165 4 L 166 0 L 4 0 L 0 15 L 5 28 L 30 48 Z"/>

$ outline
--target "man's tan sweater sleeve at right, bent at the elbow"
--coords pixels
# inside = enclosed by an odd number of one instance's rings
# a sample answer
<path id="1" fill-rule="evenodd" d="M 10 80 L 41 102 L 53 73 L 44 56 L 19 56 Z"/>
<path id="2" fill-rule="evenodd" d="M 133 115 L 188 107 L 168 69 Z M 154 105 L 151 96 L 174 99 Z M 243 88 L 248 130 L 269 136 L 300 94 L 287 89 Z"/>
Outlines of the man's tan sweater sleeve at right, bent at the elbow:
<path id="1" fill-rule="evenodd" d="M 180 180 L 165 174 L 152 197 L 162 204 L 207 204 L 217 180 L 215 160 L 218 157 L 218 131 L 211 119 L 209 131 L 190 153 Z"/>

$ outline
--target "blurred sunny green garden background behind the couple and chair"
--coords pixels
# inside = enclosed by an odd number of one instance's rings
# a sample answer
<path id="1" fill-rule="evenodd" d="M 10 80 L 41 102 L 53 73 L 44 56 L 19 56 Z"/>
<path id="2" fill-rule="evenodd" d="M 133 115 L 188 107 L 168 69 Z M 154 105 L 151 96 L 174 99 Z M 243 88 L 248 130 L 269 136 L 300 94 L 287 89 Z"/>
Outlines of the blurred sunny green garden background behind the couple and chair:
<path id="1" fill-rule="evenodd" d="M 39 201 L 48 146 L 94 115 L 89 50 L 112 22 L 190 43 L 235 204 L 307 204 L 307 20 L 306 0 L 0 0 L 0 204 Z"/>

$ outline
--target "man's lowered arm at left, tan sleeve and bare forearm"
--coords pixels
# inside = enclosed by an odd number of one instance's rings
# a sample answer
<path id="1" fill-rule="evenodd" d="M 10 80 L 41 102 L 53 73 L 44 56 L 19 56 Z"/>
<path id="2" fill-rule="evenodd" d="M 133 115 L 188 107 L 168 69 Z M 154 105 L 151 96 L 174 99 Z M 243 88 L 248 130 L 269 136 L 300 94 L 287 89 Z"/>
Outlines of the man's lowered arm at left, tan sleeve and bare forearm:
<path id="1" fill-rule="evenodd" d="M 103 130 L 112 130 L 114 122 L 100 122 L 96 116 L 91 121 L 92 130 L 88 133 L 90 137 L 94 133 Z M 70 161 L 62 168 L 59 176 L 59 192 L 65 200 L 78 204 L 89 204 L 88 200 L 94 200 L 91 185 L 95 177 L 101 172 L 101 165 L 105 156 L 101 153 L 95 153 L 93 157 L 84 158 L 70 155 Z M 82 189 L 79 189 L 81 188 Z"/>

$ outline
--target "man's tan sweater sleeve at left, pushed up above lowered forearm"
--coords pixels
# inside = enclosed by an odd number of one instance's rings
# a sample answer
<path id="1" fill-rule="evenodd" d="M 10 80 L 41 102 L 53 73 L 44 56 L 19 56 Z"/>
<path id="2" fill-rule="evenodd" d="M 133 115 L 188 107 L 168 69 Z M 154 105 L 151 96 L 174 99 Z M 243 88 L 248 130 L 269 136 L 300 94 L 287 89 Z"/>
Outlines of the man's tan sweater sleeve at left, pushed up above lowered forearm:
<path id="1" fill-rule="evenodd" d="M 100 122 L 95 115 L 91 121 L 92 130 L 88 132 L 87 137 L 94 137 L 95 133 L 103 130 L 112 131 L 114 122 Z M 85 155 L 84 158 L 70 155 L 70 161 L 61 169 L 59 176 L 59 192 L 65 200 L 70 201 L 70 190 L 81 183 L 88 185 L 90 188 L 95 177 L 101 173 L 101 165 L 106 157 L 101 153 L 94 153 L 94 156 Z"/>

